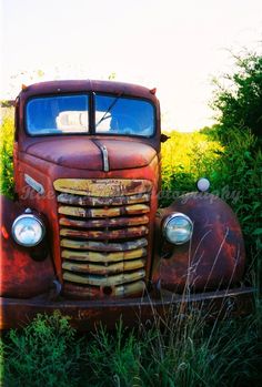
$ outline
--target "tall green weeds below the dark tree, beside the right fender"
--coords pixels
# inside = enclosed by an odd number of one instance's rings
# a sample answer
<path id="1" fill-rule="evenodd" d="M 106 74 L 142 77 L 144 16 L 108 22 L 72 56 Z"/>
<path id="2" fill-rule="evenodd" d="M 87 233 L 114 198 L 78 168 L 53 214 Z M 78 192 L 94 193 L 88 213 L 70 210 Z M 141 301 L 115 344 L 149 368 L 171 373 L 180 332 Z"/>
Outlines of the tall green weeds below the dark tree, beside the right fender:
<path id="1" fill-rule="evenodd" d="M 262 153 L 255 151 L 258 140 L 249 131 L 231 133 L 231 146 L 211 176 L 215 189 L 228 187 L 224 198 L 236 213 L 242 226 L 249 256 L 249 268 L 259 265 L 261 274 L 262 253 Z M 219 189 L 220 186 L 220 189 Z"/>

